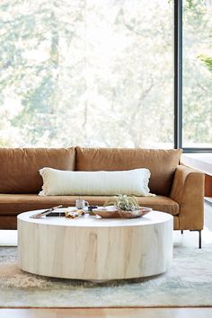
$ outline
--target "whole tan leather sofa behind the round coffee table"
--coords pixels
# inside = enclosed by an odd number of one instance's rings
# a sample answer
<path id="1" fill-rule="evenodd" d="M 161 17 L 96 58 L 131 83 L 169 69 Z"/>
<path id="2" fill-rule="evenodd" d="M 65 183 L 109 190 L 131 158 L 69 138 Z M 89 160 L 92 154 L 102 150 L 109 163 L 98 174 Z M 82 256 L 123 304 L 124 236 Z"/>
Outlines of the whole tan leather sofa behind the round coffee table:
<path id="1" fill-rule="evenodd" d="M 75 204 L 74 196 L 38 195 L 39 170 L 51 167 L 71 171 L 115 171 L 146 167 L 155 197 L 138 197 L 141 206 L 172 214 L 175 230 L 203 228 L 204 174 L 180 164 L 181 149 L 120 148 L 1 148 L 0 228 L 16 229 L 16 216 L 24 211 Z M 102 205 L 109 197 L 84 196 Z"/>

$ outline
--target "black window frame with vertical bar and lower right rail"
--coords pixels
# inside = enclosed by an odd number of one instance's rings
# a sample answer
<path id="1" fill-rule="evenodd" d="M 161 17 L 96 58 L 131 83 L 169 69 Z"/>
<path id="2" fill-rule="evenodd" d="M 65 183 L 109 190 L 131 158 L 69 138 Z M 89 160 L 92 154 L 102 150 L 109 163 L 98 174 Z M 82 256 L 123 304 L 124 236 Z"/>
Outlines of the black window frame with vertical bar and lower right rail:
<path id="1" fill-rule="evenodd" d="M 212 153 L 212 148 L 182 146 L 182 1 L 173 1 L 174 148 L 181 148 L 183 153 Z"/>

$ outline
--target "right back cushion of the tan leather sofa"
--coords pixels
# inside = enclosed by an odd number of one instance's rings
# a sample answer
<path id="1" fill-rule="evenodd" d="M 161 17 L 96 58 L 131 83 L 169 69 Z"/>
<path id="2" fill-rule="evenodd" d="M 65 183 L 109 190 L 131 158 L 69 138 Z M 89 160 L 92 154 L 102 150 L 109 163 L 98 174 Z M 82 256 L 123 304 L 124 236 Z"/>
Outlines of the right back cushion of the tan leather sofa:
<path id="1" fill-rule="evenodd" d="M 180 162 L 181 149 L 127 149 L 76 147 L 76 170 L 112 171 L 147 168 L 151 172 L 149 188 L 152 193 L 167 196 L 173 174 Z"/>

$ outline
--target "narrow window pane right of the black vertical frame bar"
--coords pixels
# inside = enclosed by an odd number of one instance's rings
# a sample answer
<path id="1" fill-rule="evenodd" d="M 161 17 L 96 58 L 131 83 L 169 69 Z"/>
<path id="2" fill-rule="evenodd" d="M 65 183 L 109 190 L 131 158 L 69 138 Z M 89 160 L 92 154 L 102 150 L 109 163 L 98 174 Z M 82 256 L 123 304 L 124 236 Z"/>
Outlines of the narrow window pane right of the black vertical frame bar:
<path id="1" fill-rule="evenodd" d="M 212 1 L 182 6 L 182 146 L 212 147 Z"/>

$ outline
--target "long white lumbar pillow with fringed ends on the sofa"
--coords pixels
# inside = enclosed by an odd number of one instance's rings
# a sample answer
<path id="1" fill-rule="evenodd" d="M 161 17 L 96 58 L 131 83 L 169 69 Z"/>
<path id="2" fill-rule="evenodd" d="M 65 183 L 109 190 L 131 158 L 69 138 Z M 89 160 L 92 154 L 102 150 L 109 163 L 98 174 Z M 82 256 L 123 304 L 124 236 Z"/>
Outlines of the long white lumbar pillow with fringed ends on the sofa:
<path id="1" fill-rule="evenodd" d="M 72 172 L 52 168 L 40 169 L 43 179 L 40 196 L 116 195 L 151 196 L 148 188 L 150 171 Z"/>

